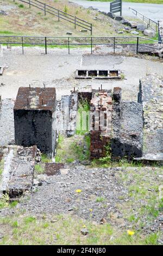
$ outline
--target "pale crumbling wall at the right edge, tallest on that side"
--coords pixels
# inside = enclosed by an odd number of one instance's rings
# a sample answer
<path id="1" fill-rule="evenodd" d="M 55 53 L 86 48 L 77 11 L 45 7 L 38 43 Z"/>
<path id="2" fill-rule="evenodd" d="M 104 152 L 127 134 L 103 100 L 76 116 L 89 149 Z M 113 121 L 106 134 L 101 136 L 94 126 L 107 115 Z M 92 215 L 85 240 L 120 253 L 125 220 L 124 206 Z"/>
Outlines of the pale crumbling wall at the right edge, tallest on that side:
<path id="1" fill-rule="evenodd" d="M 140 80 L 143 106 L 143 159 L 163 160 L 163 82 L 151 74 Z"/>

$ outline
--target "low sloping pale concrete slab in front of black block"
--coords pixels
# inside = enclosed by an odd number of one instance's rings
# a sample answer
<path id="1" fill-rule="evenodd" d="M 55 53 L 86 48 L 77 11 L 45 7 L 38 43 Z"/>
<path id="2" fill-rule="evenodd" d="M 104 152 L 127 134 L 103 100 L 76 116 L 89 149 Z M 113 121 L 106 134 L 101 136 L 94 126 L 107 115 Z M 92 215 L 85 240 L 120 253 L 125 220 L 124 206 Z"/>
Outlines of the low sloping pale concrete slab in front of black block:
<path id="1" fill-rule="evenodd" d="M 37 148 L 10 146 L 3 150 L 4 170 L 0 182 L 0 193 L 9 193 L 10 198 L 21 196 L 31 190 L 34 178 Z"/>

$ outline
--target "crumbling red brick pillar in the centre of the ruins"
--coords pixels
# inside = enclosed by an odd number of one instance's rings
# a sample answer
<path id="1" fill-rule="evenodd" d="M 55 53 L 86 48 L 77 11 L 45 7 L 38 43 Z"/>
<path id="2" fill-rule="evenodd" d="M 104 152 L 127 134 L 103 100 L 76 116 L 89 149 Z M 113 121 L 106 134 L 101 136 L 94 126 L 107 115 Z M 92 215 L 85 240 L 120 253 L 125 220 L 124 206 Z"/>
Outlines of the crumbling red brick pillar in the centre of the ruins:
<path id="1" fill-rule="evenodd" d="M 112 97 L 105 90 L 93 94 L 91 100 L 91 159 L 106 155 L 106 145 L 111 141 Z"/>

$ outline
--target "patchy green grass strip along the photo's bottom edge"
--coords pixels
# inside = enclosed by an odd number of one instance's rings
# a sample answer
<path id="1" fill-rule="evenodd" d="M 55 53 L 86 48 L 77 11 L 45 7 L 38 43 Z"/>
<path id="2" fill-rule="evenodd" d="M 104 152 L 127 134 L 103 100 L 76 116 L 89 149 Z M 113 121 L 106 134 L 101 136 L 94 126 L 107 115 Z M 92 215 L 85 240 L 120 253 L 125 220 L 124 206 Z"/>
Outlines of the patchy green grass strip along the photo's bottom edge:
<path id="1" fill-rule="evenodd" d="M 156 245 L 160 237 L 159 232 L 146 235 L 136 230 L 130 237 L 127 228 L 121 231 L 109 223 L 101 225 L 77 216 L 51 217 L 57 222 L 31 216 L 1 217 L 6 232 L 0 245 Z M 81 234 L 83 227 L 89 230 L 86 236 Z"/>

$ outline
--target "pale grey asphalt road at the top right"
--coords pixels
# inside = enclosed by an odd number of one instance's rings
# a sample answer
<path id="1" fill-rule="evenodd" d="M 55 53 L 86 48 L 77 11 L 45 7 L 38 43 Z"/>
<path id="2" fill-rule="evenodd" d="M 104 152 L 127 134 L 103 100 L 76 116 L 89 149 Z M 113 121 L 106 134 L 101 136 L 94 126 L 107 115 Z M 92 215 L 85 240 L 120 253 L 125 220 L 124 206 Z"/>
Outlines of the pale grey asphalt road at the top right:
<path id="1" fill-rule="evenodd" d="M 74 2 L 83 7 L 88 8 L 92 6 L 93 8 L 97 8 L 101 11 L 110 11 L 110 3 L 109 2 L 93 2 L 93 1 L 84 1 L 84 0 L 71 0 L 70 2 Z M 128 3 L 123 2 L 122 7 L 122 15 L 124 16 L 135 16 L 129 10 L 129 7 L 139 11 L 143 15 L 153 19 L 155 21 L 163 20 L 163 3 L 162 4 L 145 4 L 145 3 Z"/>

